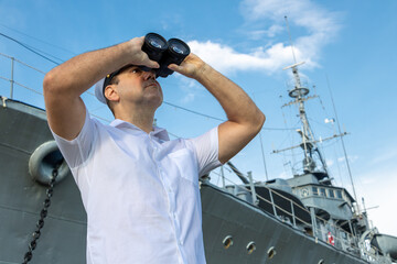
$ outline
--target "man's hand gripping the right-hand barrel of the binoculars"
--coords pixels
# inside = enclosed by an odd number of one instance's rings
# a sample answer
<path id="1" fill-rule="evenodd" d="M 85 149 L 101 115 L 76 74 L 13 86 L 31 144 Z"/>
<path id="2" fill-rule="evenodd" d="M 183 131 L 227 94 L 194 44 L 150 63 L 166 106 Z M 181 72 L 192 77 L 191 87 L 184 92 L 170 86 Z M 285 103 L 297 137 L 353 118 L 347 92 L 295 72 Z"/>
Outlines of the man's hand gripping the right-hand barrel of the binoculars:
<path id="1" fill-rule="evenodd" d="M 207 66 L 198 56 L 193 53 L 181 63 L 181 65 L 170 64 L 169 68 L 189 78 L 197 79 Z"/>

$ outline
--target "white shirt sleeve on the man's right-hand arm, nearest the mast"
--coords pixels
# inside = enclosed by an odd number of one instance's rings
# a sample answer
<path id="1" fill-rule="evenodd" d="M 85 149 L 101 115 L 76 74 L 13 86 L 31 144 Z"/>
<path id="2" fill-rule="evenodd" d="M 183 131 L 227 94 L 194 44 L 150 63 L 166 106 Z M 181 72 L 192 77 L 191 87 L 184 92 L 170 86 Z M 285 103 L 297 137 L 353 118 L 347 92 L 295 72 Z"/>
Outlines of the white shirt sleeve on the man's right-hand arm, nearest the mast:
<path id="1" fill-rule="evenodd" d="M 222 165 L 218 160 L 217 127 L 187 141 L 193 145 L 197 156 L 198 176 L 203 176 Z"/>

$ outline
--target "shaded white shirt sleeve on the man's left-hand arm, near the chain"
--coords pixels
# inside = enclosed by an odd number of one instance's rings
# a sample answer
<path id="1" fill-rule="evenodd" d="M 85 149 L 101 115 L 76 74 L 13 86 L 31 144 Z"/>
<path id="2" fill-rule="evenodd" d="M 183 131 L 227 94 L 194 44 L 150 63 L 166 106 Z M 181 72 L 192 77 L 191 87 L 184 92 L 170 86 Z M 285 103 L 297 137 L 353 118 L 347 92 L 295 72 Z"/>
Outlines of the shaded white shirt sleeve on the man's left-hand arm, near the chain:
<path id="1" fill-rule="evenodd" d="M 95 140 L 94 127 L 94 120 L 90 119 L 86 109 L 83 129 L 74 140 L 65 140 L 51 130 L 62 155 L 71 168 L 81 166 L 89 157 Z"/>

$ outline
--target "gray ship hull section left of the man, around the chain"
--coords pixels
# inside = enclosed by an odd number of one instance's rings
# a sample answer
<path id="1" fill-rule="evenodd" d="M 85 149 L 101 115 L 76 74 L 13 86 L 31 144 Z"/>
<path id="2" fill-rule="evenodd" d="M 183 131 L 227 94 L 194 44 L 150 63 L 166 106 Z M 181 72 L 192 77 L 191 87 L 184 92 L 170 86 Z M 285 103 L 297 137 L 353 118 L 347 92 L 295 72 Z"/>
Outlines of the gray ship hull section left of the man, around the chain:
<path id="1" fill-rule="evenodd" d="M 0 263 L 23 261 L 46 190 L 29 175 L 29 158 L 51 140 L 43 110 L 12 100 L 0 107 Z M 86 213 L 71 175 L 51 202 L 30 263 L 85 263 Z"/>

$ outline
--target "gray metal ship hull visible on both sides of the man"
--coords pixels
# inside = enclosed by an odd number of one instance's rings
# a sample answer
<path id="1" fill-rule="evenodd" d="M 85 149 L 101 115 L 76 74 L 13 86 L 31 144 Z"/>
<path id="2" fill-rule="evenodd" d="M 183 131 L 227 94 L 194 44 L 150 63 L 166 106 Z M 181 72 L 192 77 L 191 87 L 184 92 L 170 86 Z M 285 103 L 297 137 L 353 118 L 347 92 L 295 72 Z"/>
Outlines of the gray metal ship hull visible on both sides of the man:
<path id="1" fill-rule="evenodd" d="M 8 100 L 0 108 L 0 263 L 21 263 L 46 189 L 30 176 L 29 160 L 53 138 L 45 112 L 18 101 Z M 208 264 L 366 263 L 215 186 L 203 183 L 201 193 Z M 31 263 L 85 263 L 85 235 L 86 215 L 67 175 L 54 188 Z M 233 244 L 227 248 L 228 235 Z"/>

